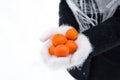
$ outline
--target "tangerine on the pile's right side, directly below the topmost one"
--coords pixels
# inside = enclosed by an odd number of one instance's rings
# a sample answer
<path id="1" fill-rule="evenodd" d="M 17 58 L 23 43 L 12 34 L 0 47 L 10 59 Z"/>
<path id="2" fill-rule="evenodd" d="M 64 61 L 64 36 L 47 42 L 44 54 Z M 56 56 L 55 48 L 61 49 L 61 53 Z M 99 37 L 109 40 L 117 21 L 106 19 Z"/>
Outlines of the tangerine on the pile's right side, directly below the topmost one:
<path id="1" fill-rule="evenodd" d="M 77 49 L 77 44 L 73 40 L 68 40 L 65 44 L 69 48 L 69 53 L 72 54 Z"/>

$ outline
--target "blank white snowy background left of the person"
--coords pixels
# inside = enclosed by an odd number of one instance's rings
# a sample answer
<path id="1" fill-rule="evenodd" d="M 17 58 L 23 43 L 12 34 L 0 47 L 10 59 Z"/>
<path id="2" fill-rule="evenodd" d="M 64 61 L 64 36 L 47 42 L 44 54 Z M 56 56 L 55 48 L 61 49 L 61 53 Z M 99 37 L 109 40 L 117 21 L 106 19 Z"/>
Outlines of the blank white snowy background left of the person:
<path id="1" fill-rule="evenodd" d="M 39 38 L 58 27 L 59 0 L 0 0 L 0 80 L 73 80 L 42 62 Z"/>

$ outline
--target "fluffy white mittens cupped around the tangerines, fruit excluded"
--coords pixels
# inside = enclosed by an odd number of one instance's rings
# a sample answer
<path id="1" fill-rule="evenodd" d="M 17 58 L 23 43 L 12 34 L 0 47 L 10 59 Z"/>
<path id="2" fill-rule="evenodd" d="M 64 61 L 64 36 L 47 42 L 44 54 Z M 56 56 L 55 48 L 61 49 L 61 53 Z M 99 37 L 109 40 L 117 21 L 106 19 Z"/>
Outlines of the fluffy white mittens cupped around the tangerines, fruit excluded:
<path id="1" fill-rule="evenodd" d="M 43 37 L 40 38 L 42 42 L 46 42 L 42 47 L 40 54 L 47 66 L 53 69 L 81 66 L 92 51 L 92 46 L 88 38 L 84 34 L 80 33 L 78 38 L 75 40 L 77 43 L 77 50 L 72 55 L 69 55 L 67 57 L 56 57 L 49 54 L 48 48 L 50 45 L 52 45 L 52 36 L 58 33 L 65 35 L 66 31 L 70 28 L 70 26 L 65 25 L 54 28 L 48 31 L 46 34 L 44 33 Z"/>

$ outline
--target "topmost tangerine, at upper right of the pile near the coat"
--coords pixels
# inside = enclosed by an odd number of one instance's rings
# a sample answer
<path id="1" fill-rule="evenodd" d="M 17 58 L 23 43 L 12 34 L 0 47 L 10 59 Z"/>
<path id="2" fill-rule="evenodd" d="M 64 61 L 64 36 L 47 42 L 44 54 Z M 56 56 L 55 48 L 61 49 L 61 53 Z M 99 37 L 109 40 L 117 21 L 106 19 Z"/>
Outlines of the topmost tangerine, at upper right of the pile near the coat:
<path id="1" fill-rule="evenodd" d="M 78 32 L 74 28 L 70 28 L 66 31 L 65 36 L 69 40 L 75 40 L 78 37 Z"/>

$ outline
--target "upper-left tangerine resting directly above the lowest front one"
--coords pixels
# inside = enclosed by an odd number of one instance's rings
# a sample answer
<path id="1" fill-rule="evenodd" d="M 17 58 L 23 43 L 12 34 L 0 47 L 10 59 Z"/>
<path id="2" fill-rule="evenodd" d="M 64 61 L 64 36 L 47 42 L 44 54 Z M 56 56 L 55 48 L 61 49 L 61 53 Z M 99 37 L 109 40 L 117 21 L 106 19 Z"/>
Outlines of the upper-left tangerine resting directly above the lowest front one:
<path id="1" fill-rule="evenodd" d="M 66 42 L 67 42 L 67 38 L 63 34 L 55 34 L 52 37 L 52 43 L 55 46 L 60 44 L 65 44 Z"/>

